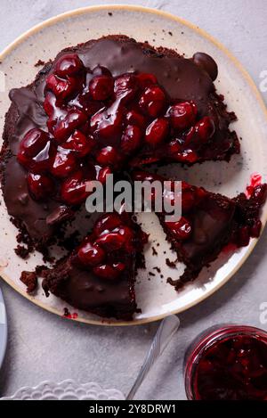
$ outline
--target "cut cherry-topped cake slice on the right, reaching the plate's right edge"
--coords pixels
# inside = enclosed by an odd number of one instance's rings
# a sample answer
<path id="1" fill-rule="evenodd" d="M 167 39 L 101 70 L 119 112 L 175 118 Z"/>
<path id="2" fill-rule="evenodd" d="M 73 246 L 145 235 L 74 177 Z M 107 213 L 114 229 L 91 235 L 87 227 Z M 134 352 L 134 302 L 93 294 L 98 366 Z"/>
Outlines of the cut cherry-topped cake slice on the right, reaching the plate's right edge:
<path id="1" fill-rule="evenodd" d="M 135 171 L 133 179 L 158 180 L 162 184 L 166 180 L 144 171 Z M 240 193 L 236 198 L 229 199 L 182 182 L 182 217 L 169 222 L 166 221 L 166 213 L 157 213 L 167 241 L 186 266 L 181 277 L 169 280 L 176 290 L 196 279 L 201 269 L 217 258 L 227 244 L 231 243 L 236 248 L 245 247 L 251 237 L 259 237 L 262 229 L 260 209 L 266 201 L 267 184 L 256 185 L 250 193 L 250 197 Z M 174 199 L 174 193 L 168 193 L 168 198 Z"/>

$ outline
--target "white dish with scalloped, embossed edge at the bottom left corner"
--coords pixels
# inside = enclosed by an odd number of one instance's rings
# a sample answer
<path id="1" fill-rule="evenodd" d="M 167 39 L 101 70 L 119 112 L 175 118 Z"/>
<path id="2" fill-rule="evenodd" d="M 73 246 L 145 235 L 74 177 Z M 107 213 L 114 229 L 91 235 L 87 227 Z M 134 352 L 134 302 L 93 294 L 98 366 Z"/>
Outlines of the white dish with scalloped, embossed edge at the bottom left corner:
<path id="1" fill-rule="evenodd" d="M 124 395 L 117 389 L 103 389 L 98 383 L 78 384 L 71 379 L 53 383 L 42 381 L 35 388 L 25 386 L 12 397 L 0 400 L 124 400 Z"/>

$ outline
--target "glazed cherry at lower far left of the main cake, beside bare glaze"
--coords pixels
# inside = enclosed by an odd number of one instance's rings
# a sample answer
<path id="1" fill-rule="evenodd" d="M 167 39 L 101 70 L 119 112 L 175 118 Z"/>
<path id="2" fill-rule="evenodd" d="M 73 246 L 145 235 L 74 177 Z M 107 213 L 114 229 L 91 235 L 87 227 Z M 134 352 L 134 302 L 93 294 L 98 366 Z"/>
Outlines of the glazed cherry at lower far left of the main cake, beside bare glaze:
<path id="1" fill-rule="evenodd" d="M 36 201 L 47 199 L 54 192 L 52 178 L 44 176 L 44 174 L 28 173 L 27 182 L 29 193 Z"/>

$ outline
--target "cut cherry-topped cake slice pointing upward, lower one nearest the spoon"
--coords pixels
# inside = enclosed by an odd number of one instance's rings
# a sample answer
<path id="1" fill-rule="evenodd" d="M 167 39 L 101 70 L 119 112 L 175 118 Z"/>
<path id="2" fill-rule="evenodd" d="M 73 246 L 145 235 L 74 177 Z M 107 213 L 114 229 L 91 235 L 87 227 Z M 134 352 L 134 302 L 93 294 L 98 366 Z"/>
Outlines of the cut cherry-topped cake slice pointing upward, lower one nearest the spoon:
<path id="1" fill-rule="evenodd" d="M 98 316 L 131 320 L 137 311 L 134 279 L 143 266 L 147 235 L 127 213 L 102 215 L 92 234 L 52 269 L 44 270 L 48 296 Z"/>

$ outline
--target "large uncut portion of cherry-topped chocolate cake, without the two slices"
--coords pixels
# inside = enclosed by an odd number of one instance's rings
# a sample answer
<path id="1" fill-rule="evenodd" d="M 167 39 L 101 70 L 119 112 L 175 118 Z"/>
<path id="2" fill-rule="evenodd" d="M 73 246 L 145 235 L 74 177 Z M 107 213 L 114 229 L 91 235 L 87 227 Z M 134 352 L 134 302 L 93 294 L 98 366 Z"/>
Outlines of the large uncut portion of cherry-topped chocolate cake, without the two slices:
<path id="1" fill-rule="evenodd" d="M 214 60 L 125 36 L 67 48 L 10 92 L 2 149 L 8 213 L 36 244 L 85 202 L 87 181 L 151 162 L 230 160 L 236 119 L 216 93 Z M 28 238 L 27 238 L 28 239 Z"/>

